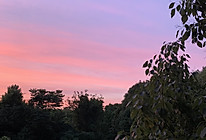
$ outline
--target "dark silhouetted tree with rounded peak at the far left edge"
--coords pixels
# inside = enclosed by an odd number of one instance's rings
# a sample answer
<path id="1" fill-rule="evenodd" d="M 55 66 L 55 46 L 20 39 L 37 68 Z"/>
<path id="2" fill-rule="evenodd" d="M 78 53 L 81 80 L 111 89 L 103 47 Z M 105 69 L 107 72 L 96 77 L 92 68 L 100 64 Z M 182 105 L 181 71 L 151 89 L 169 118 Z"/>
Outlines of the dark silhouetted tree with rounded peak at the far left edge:
<path id="1" fill-rule="evenodd" d="M 23 129 L 29 115 L 28 107 L 22 100 L 19 86 L 8 87 L 7 93 L 0 101 L 0 137 L 9 136 L 15 139 Z"/>

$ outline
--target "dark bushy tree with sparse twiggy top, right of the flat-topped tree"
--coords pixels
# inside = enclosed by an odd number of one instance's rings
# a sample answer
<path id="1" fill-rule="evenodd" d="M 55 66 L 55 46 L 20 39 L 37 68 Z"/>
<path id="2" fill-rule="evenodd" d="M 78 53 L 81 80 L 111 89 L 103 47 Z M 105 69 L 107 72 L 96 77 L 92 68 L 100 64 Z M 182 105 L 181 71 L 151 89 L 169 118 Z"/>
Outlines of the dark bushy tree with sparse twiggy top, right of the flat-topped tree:
<path id="1" fill-rule="evenodd" d="M 75 92 L 72 100 L 68 99 L 69 108 L 73 110 L 74 125 L 80 131 L 100 132 L 103 118 L 103 98 L 83 92 Z"/>

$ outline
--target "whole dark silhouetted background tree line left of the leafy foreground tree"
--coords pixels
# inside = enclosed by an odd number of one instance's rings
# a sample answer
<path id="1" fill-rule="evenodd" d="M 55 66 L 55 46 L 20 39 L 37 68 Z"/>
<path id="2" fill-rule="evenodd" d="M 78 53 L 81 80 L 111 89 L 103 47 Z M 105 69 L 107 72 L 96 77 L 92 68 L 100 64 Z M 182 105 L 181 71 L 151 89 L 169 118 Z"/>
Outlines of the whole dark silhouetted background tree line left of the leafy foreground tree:
<path id="1" fill-rule="evenodd" d="M 123 104 L 103 107 L 103 97 L 75 92 L 63 106 L 61 90 L 29 90 L 23 100 L 18 85 L 11 85 L 0 100 L 0 138 L 12 140 L 110 140 L 129 133 L 130 111 Z"/>

